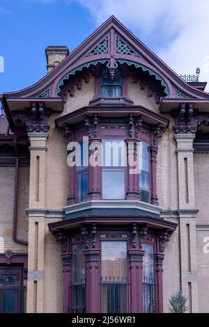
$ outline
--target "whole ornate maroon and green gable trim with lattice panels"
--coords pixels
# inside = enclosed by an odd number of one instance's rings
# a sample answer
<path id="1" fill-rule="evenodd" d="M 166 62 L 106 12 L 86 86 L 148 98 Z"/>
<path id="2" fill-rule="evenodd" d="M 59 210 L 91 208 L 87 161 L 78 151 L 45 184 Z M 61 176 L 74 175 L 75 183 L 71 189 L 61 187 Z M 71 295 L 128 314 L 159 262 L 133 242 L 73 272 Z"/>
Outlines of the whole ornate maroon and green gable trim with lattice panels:
<path id="1" fill-rule="evenodd" d="M 38 83 L 7 93 L 6 97 L 60 97 L 65 81 L 98 63 L 107 63 L 110 69 L 117 67 L 118 63 L 141 67 L 160 81 L 167 98 L 209 99 L 208 93 L 196 90 L 183 81 L 113 16 Z"/>

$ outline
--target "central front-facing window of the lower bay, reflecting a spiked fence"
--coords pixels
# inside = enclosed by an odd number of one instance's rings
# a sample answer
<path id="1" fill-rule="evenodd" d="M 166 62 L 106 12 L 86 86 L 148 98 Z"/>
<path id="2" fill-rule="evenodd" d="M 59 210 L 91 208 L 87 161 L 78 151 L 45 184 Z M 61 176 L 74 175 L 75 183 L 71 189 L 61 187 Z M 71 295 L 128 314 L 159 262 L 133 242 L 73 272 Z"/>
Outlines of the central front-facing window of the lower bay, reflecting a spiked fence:
<path id="1" fill-rule="evenodd" d="M 102 241 L 102 312 L 127 312 L 127 242 Z"/>

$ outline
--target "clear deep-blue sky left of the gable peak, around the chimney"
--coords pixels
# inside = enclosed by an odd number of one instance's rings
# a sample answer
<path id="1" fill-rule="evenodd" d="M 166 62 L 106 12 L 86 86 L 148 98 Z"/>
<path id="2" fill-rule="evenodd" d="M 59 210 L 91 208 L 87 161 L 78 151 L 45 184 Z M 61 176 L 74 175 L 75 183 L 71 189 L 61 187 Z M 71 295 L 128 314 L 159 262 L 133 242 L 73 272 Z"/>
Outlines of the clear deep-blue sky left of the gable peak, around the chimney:
<path id="1" fill-rule="evenodd" d="M 78 3 L 2 1 L 0 12 L 0 93 L 20 90 L 46 74 L 45 47 L 74 49 L 95 24 Z"/>

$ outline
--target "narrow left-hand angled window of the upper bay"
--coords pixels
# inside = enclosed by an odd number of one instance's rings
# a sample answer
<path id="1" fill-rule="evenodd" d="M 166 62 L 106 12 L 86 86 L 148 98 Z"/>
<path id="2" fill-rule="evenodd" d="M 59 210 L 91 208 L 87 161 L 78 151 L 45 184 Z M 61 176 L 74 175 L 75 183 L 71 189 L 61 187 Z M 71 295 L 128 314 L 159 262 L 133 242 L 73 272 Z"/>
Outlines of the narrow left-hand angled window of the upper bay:
<path id="1" fill-rule="evenodd" d="M 79 143 L 80 144 L 80 159 L 81 166 L 77 167 L 77 200 L 78 202 L 85 201 L 88 193 L 88 166 L 86 165 L 86 157 L 87 157 L 87 143 Z M 79 154 L 79 153 L 78 153 Z M 87 158 L 88 159 L 88 158 Z"/>

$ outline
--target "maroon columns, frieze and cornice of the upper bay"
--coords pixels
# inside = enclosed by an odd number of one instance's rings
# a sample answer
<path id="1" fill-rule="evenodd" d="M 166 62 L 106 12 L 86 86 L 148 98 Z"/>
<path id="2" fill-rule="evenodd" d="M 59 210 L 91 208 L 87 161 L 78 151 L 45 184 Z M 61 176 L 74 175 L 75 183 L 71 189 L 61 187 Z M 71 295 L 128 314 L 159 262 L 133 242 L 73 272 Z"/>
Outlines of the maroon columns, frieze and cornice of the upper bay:
<path id="1" fill-rule="evenodd" d="M 119 108 L 118 108 L 119 109 Z M 107 116 L 102 122 L 102 113 Z M 119 118 L 117 118 L 117 113 Z M 121 114 L 123 122 L 121 120 Z M 134 161 L 137 161 L 137 142 L 146 141 L 150 145 L 150 191 L 151 203 L 158 205 L 156 194 L 156 155 L 157 138 L 166 129 L 169 121 L 162 116 L 148 111 L 144 107 L 130 106 L 115 110 L 114 119 L 119 119 L 118 123 L 111 118 L 112 110 L 109 107 L 85 107 L 74 113 L 67 114 L 56 119 L 56 126 L 59 128 L 67 141 L 72 139 L 82 142 L 83 136 L 89 138 L 89 157 L 100 147 L 102 138 L 118 137 L 123 139 L 127 145 L 132 145 Z M 110 116 L 108 118 L 108 116 Z M 77 120 L 82 120 L 77 124 Z M 149 125 L 144 127 L 143 123 Z M 151 131 L 150 131 L 151 129 Z M 100 160 L 100 158 L 98 158 Z M 127 160 L 128 163 L 128 160 Z M 68 205 L 77 202 L 75 167 L 70 167 L 69 197 Z M 130 174 L 132 167 L 125 168 L 126 173 L 126 199 L 140 200 L 139 175 Z M 99 166 L 88 166 L 88 200 L 98 200 L 102 195 L 102 168 Z"/>

